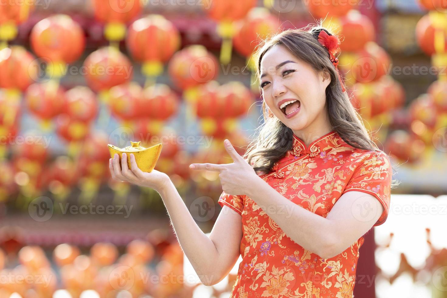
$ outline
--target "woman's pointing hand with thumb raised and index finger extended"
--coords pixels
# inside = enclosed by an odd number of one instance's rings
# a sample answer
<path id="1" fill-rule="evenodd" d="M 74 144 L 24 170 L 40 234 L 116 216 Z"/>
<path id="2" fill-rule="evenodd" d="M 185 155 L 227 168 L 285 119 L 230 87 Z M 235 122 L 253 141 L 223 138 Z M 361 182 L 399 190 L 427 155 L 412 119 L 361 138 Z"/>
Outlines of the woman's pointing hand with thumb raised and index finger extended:
<path id="1" fill-rule="evenodd" d="M 219 172 L 220 183 L 225 193 L 249 196 L 251 189 L 256 188 L 259 176 L 249 163 L 236 152 L 228 139 L 223 144 L 233 159 L 232 164 L 190 164 L 190 168 Z"/>

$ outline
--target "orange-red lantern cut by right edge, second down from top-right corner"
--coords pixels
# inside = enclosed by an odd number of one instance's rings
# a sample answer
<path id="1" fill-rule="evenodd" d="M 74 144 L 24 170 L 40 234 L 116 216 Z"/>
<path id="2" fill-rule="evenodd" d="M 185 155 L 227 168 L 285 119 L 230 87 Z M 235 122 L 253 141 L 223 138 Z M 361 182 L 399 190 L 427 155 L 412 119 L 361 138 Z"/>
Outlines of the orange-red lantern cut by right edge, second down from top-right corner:
<path id="1" fill-rule="evenodd" d="M 423 16 L 416 25 L 416 39 L 426 55 L 447 51 L 447 16 L 445 13 L 432 11 Z"/>

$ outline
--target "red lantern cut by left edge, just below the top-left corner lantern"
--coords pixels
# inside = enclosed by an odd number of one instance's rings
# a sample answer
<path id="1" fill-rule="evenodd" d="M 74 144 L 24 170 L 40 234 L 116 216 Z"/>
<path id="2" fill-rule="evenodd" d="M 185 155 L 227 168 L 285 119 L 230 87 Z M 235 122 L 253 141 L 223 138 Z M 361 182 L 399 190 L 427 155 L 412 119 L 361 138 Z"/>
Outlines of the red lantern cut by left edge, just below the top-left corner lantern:
<path id="1" fill-rule="evenodd" d="M 33 55 L 22 46 L 0 50 L 0 88 L 25 91 L 36 82 L 38 67 Z"/>

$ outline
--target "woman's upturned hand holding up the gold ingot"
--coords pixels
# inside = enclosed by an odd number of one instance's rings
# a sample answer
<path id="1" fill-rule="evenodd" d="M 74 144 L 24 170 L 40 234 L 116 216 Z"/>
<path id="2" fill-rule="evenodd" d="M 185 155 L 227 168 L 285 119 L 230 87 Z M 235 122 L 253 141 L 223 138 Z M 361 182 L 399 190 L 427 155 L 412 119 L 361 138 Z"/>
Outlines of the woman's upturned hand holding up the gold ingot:
<path id="1" fill-rule="evenodd" d="M 135 185 L 150 187 L 160 193 L 169 185 L 169 176 L 163 172 L 152 170 L 152 172 L 141 171 L 135 161 L 135 155 L 131 153 L 131 168 L 127 166 L 127 154 L 123 153 L 121 166 L 119 156 L 115 153 L 114 158 L 109 160 L 110 174 L 112 178 L 118 181 L 127 181 Z"/>

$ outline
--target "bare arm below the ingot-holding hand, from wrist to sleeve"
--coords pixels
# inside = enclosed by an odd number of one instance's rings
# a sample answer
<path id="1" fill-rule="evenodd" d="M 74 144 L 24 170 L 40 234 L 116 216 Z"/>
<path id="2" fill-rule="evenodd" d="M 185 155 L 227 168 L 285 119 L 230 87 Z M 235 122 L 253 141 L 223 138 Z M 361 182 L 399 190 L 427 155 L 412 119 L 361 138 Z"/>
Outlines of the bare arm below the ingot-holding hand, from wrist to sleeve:
<path id="1" fill-rule="evenodd" d="M 240 214 L 224 206 L 208 238 L 200 230 L 172 183 L 160 191 L 182 250 L 204 285 L 214 285 L 230 272 L 240 256 Z"/>

